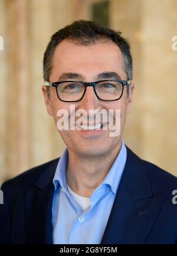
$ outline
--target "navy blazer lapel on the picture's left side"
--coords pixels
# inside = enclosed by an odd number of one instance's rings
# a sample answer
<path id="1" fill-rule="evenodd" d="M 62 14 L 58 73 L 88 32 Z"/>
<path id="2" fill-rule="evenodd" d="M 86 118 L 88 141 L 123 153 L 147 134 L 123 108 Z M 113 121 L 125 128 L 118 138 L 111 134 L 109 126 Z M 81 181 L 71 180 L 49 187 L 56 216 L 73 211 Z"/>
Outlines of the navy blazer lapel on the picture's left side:
<path id="1" fill-rule="evenodd" d="M 54 160 L 34 184 L 27 184 L 25 187 L 25 226 L 28 244 L 53 244 L 53 177 L 58 160 Z"/>

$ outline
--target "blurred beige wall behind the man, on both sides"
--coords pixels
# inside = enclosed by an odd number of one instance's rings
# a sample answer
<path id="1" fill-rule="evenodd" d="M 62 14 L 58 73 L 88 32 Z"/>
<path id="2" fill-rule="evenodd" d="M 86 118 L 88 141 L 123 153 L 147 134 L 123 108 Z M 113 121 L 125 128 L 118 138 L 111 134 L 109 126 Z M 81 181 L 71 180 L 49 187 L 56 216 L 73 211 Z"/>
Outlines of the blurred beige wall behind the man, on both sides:
<path id="1" fill-rule="evenodd" d="M 129 40 L 136 88 L 124 141 L 177 176 L 177 0 L 1 0 L 0 184 L 65 147 L 45 110 L 42 57 L 51 35 L 79 19 L 120 30 Z"/>

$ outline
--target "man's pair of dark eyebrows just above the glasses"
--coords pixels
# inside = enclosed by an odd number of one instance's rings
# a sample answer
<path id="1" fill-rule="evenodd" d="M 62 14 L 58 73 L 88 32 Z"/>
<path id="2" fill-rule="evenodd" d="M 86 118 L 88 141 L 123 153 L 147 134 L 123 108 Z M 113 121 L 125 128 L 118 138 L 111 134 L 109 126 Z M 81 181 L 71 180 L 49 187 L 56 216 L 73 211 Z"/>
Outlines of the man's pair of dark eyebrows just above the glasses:
<path id="1" fill-rule="evenodd" d="M 73 72 L 68 72 L 68 73 L 63 73 L 61 76 L 58 78 L 58 80 L 65 80 L 65 79 L 80 79 L 84 80 L 84 76 L 82 76 L 79 73 L 73 73 Z M 102 72 L 97 74 L 96 80 L 98 79 L 116 79 L 116 80 L 121 80 L 121 77 L 119 74 L 116 72 Z"/>

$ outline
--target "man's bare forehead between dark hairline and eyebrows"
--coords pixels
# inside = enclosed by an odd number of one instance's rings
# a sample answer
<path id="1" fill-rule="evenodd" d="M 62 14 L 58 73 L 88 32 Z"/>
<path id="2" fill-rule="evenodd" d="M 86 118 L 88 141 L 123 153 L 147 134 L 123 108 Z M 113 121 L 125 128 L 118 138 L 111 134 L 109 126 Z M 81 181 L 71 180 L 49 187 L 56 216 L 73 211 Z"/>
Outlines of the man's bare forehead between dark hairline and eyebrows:
<path id="1" fill-rule="evenodd" d="M 51 77 L 54 80 L 65 72 L 80 73 L 90 78 L 100 72 L 116 72 L 126 79 L 122 51 L 108 40 L 99 40 L 89 46 L 63 40 L 55 48 L 52 66 Z"/>

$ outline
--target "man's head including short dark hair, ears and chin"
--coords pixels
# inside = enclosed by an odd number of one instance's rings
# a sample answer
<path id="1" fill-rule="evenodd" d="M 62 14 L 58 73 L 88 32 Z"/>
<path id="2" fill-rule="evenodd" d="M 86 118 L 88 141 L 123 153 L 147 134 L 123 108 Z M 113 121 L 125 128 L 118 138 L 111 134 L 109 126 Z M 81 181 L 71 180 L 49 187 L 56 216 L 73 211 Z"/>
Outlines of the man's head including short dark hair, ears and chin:
<path id="1" fill-rule="evenodd" d="M 132 80 L 132 56 L 130 46 L 120 32 L 100 27 L 91 21 L 75 21 L 57 31 L 44 53 L 44 80 L 58 82 L 74 80 L 96 82 L 97 80 L 117 79 Z M 116 74 L 116 75 L 115 75 Z M 101 77 L 101 79 L 100 79 Z M 99 156 L 107 154 L 120 143 L 126 114 L 130 111 L 134 86 L 123 90 L 119 101 L 101 101 L 91 86 L 78 102 L 63 102 L 57 97 L 53 86 L 42 86 L 45 105 L 57 124 L 58 109 L 69 111 L 71 103 L 77 109 L 120 109 L 121 131 L 117 138 L 110 137 L 109 131 L 60 131 L 65 144 L 76 154 Z M 115 116 L 114 116 L 115 118 Z"/>

